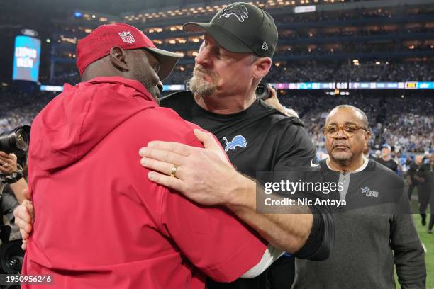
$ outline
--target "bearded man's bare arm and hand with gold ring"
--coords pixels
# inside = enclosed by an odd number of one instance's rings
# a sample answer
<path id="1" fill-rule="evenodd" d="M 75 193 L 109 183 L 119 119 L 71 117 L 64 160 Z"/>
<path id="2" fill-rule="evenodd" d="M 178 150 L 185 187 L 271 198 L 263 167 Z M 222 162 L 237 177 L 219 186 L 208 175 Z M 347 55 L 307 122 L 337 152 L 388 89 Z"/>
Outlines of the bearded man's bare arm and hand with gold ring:
<path id="1" fill-rule="evenodd" d="M 148 178 L 196 203 L 226 205 L 270 244 L 291 253 L 298 251 L 311 232 L 313 216 L 308 209 L 295 207 L 305 214 L 258 214 L 255 181 L 235 171 L 211 134 L 194 133 L 206 149 L 174 142 L 150 142 L 140 149 L 141 163 L 154 170 Z M 176 177 L 168 176 L 173 164 L 178 166 Z"/>

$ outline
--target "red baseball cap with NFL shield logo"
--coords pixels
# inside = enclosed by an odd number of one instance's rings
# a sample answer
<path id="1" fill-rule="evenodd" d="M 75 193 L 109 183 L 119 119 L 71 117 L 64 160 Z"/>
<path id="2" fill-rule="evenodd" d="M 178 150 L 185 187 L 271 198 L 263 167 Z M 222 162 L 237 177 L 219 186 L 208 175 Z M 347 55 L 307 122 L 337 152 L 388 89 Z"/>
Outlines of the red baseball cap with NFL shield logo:
<path id="1" fill-rule="evenodd" d="M 125 23 L 101 25 L 77 45 L 77 67 L 80 75 L 92 62 L 110 54 L 111 47 L 121 47 L 123 50 L 144 48 L 160 61 L 160 80 L 169 76 L 179 58 L 184 55 L 161 50 L 138 28 Z"/>

